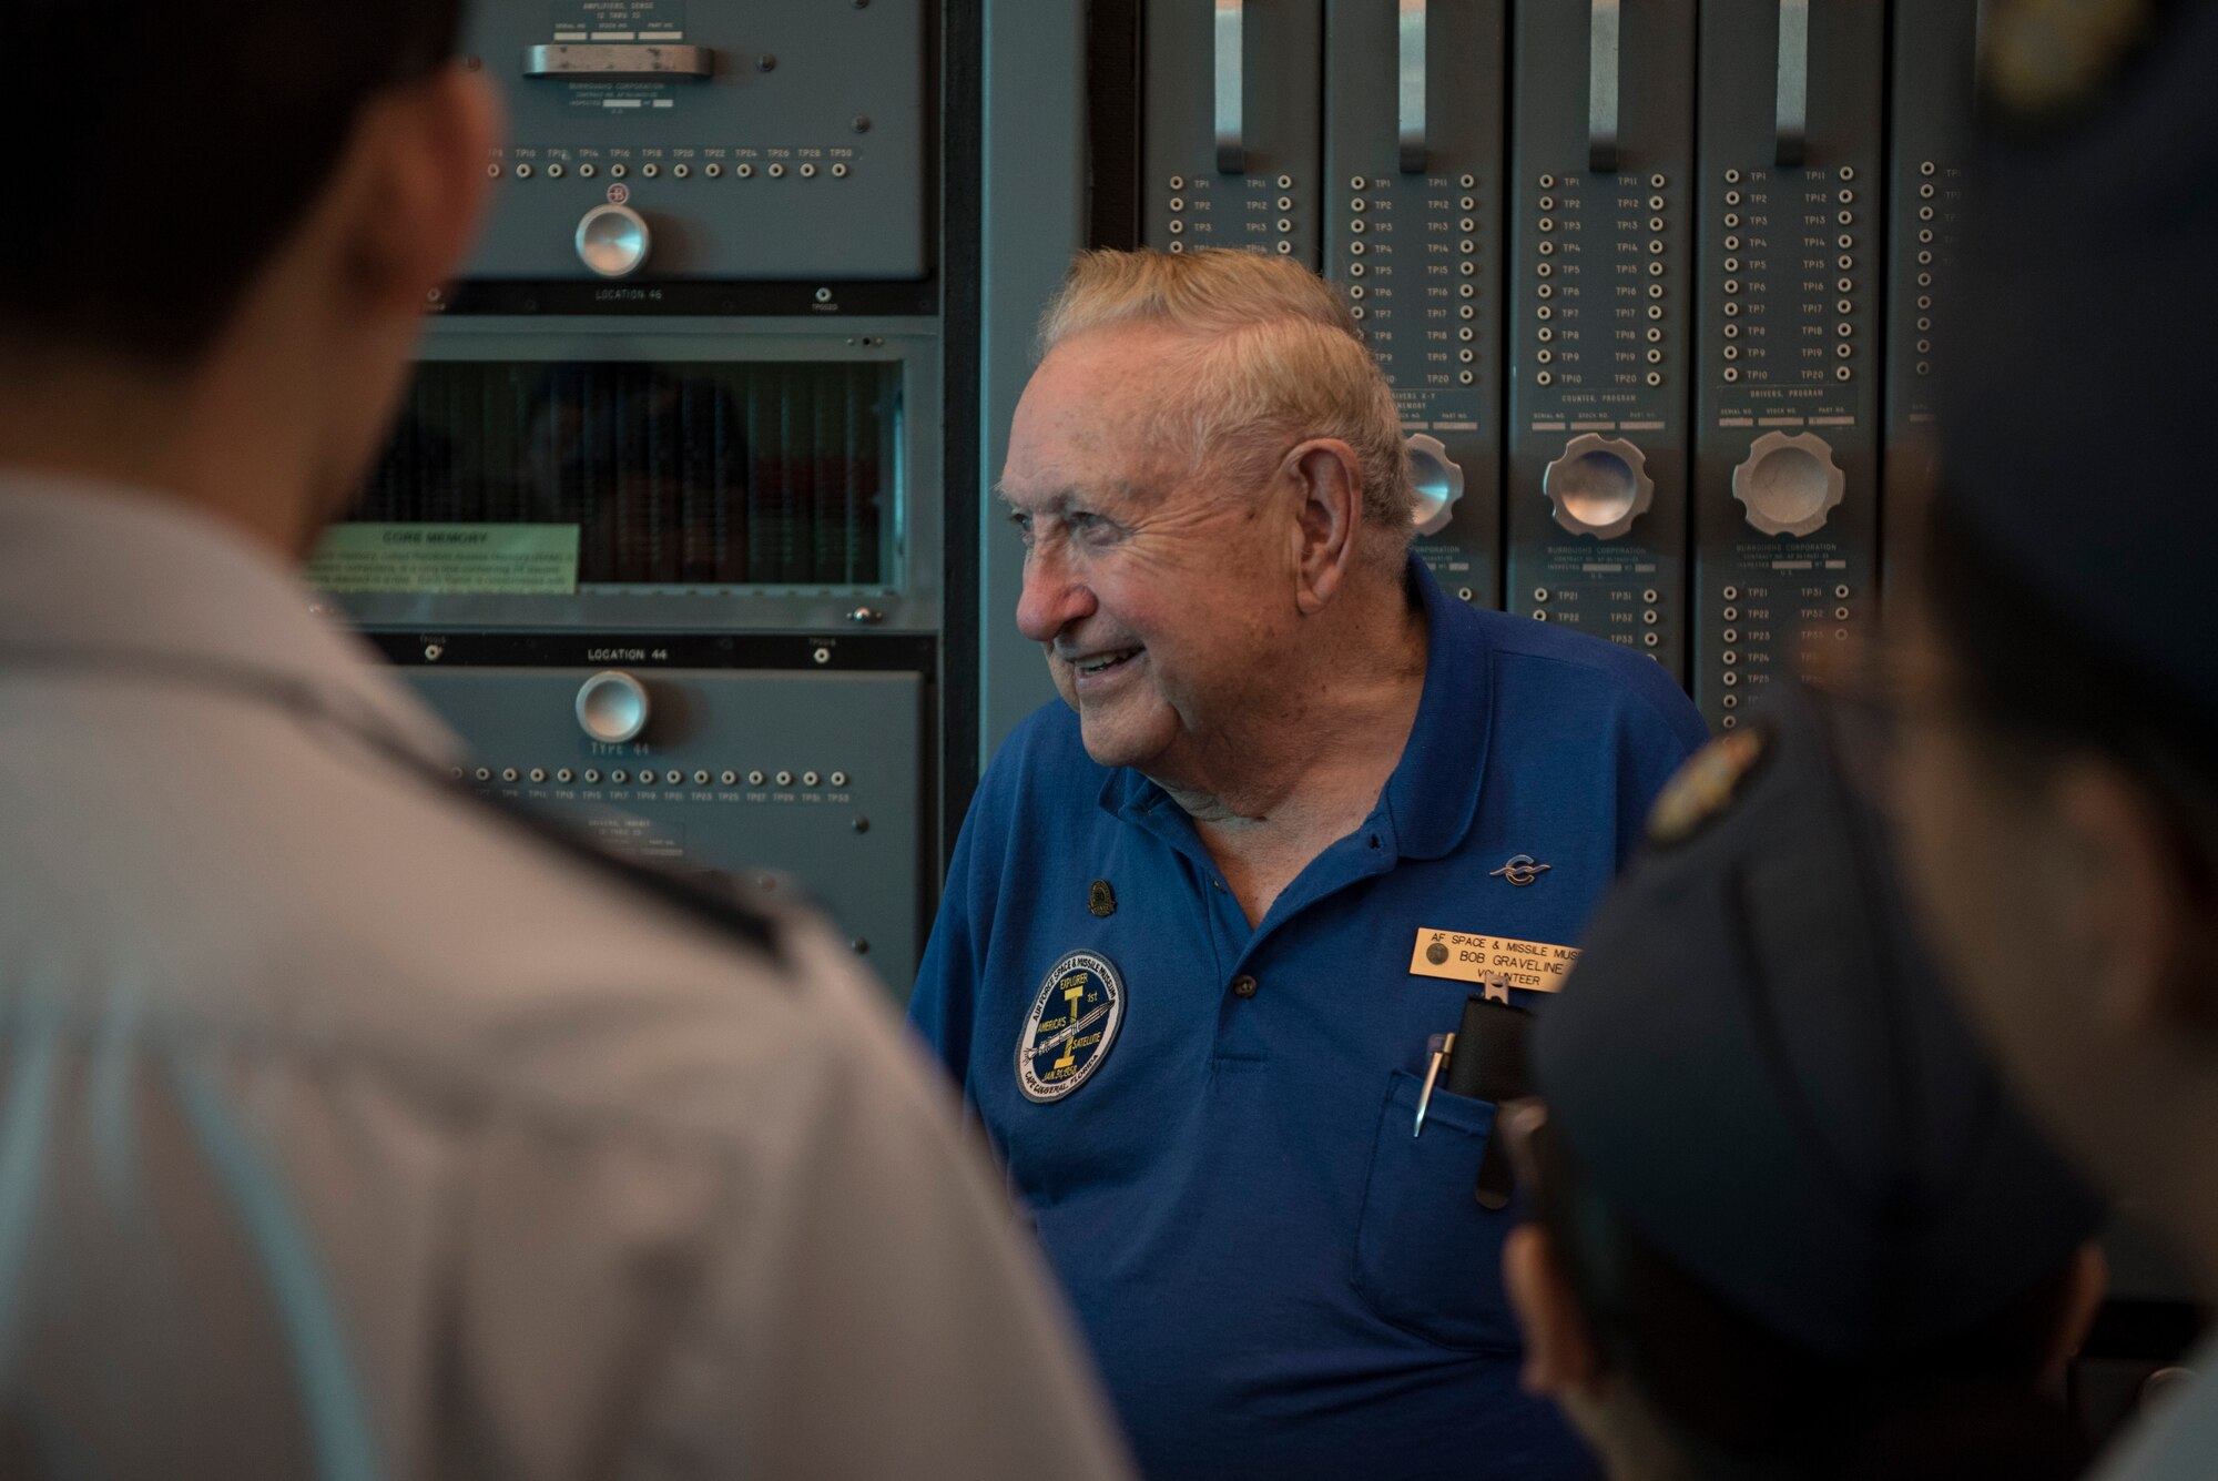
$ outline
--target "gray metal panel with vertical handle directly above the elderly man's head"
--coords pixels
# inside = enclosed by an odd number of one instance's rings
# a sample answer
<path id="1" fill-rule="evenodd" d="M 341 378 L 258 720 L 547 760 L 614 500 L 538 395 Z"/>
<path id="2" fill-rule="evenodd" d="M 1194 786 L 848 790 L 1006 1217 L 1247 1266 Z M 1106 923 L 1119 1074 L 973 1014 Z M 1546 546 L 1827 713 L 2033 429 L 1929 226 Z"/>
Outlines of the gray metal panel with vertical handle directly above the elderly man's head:
<path id="1" fill-rule="evenodd" d="M 1142 237 L 1317 266 L 1322 0 L 1147 0 Z M 1238 51 L 1220 38 L 1238 35 Z M 1238 58 L 1238 67 L 1227 67 Z M 1222 168 L 1220 100 L 1238 171 Z"/>

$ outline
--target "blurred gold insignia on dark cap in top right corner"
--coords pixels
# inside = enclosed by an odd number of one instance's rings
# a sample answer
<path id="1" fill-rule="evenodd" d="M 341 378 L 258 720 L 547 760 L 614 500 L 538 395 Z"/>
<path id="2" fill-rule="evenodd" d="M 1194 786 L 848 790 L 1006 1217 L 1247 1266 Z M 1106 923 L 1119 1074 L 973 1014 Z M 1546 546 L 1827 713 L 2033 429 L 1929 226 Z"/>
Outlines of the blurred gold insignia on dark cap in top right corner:
<path id="1" fill-rule="evenodd" d="M 1981 53 L 1987 104 L 2058 124 L 2109 100 L 2167 0 L 1992 0 Z"/>

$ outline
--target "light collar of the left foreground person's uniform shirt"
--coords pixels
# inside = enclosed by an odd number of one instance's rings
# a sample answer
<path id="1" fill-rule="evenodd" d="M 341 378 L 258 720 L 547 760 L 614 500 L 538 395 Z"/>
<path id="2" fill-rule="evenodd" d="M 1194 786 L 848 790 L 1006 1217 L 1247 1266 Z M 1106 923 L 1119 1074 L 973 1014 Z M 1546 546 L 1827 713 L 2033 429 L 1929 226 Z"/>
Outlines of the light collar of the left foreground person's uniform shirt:
<path id="1" fill-rule="evenodd" d="M 0 470 L 0 643 L 264 674 L 424 765 L 455 765 L 455 736 L 322 607 L 277 556 L 180 501 Z"/>

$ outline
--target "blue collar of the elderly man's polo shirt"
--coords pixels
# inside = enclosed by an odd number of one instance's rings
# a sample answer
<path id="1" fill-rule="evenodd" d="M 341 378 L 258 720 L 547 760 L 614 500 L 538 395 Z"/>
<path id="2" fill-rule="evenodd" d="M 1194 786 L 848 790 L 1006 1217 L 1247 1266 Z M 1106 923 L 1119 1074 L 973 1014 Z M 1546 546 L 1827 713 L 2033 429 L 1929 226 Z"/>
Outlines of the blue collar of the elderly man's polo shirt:
<path id="1" fill-rule="evenodd" d="M 1424 607 L 1424 694 L 1373 818 L 1388 829 L 1395 856 L 1446 858 L 1479 811 L 1479 778 L 1493 732 L 1493 665 L 1479 616 L 1439 590 L 1415 554 L 1404 581 Z M 1180 847 L 1191 838 L 1191 827 L 1180 827 L 1184 814 L 1171 794 L 1131 767 L 1109 772 L 1100 805 Z M 1164 818 L 1164 807 L 1176 818 Z"/>

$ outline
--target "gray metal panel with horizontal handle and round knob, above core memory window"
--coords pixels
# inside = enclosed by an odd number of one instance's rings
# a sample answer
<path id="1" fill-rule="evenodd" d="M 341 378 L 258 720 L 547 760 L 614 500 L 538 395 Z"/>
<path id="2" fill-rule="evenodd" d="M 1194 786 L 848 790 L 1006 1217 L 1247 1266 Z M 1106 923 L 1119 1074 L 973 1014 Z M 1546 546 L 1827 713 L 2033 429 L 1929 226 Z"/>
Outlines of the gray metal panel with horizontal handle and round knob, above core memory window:
<path id="1" fill-rule="evenodd" d="M 681 40 L 714 71 L 526 75 L 530 49 L 588 40 Z M 592 277 L 577 228 L 619 195 L 652 233 L 641 279 L 927 270 L 925 0 L 481 0 L 466 51 L 501 84 L 510 140 L 466 277 Z"/>

